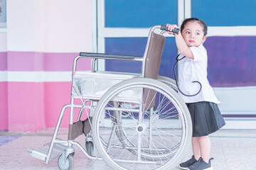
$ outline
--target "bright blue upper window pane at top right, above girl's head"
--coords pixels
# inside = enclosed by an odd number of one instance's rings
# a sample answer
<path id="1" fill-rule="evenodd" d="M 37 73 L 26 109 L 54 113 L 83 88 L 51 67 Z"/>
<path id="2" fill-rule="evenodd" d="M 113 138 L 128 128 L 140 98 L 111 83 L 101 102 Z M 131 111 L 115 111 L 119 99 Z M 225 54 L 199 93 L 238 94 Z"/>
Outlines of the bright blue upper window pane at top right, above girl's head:
<path id="1" fill-rule="evenodd" d="M 208 26 L 256 26 L 255 0 L 192 1 L 192 16 Z"/>

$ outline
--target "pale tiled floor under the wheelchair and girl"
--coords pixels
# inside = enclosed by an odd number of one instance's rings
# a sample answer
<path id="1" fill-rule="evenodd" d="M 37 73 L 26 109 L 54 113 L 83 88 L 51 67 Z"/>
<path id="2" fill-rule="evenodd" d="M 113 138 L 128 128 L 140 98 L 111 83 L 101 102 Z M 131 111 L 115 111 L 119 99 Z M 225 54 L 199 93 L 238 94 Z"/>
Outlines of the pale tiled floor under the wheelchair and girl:
<path id="1" fill-rule="evenodd" d="M 28 148 L 42 147 L 50 142 L 53 129 L 35 133 L 18 133 L 0 131 L 0 169 L 58 169 L 57 159 L 45 164 L 28 154 Z M 60 129 L 58 137 L 65 139 L 66 129 Z M 211 156 L 214 157 L 215 170 L 251 170 L 256 166 L 256 130 L 219 130 L 210 135 Z M 77 139 L 82 146 L 85 137 Z M 183 160 L 192 155 L 188 150 Z M 75 147 L 73 169 L 110 169 L 105 162 L 87 159 Z M 176 168 L 178 169 L 178 168 Z M 176 170 L 175 169 L 175 170 Z"/>

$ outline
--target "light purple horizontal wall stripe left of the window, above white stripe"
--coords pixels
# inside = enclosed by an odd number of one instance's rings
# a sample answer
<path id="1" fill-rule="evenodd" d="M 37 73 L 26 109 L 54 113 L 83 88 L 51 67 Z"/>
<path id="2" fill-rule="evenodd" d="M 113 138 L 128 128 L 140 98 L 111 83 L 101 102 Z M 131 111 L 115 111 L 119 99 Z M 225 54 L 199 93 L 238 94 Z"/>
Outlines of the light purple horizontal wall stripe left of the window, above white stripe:
<path id="1" fill-rule="evenodd" d="M 8 71 L 72 71 L 73 60 L 78 52 L 0 52 L 0 70 Z M 8 67 L 7 67 L 8 65 Z M 90 59 L 81 59 L 78 69 L 90 69 Z"/>

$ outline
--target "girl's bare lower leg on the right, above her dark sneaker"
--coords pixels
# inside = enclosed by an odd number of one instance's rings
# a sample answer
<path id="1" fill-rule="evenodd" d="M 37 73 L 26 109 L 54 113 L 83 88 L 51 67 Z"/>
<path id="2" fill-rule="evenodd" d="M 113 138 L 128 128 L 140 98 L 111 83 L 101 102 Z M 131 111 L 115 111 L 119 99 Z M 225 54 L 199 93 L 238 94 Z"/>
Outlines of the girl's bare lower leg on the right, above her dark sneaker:
<path id="1" fill-rule="evenodd" d="M 210 159 L 210 137 L 198 137 L 198 142 L 200 146 L 201 157 L 206 163 L 208 163 Z"/>

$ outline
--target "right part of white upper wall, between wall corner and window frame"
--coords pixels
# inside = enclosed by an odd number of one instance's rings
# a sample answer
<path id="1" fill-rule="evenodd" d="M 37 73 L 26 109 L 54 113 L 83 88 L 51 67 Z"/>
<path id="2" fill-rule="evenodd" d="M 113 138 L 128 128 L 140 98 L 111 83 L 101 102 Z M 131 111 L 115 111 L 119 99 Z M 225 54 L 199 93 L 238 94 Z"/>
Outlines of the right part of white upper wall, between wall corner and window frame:
<path id="1" fill-rule="evenodd" d="M 90 52 L 92 49 L 91 0 L 47 0 L 46 52 Z"/>

